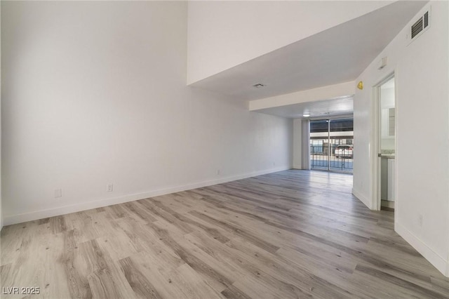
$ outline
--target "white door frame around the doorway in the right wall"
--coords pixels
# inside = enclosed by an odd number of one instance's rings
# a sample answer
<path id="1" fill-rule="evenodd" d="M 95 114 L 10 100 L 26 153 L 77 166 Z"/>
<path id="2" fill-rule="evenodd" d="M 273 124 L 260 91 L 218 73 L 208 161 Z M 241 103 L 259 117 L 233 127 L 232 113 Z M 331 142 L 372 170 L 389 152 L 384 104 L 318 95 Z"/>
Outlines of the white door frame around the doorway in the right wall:
<path id="1" fill-rule="evenodd" d="M 382 86 L 384 83 L 386 83 L 387 81 L 389 81 L 391 78 L 394 78 L 394 107 L 395 107 L 395 117 L 394 117 L 394 127 L 397 128 L 397 121 L 398 121 L 398 117 L 397 117 L 397 96 L 398 96 L 398 92 L 397 92 L 397 88 L 396 88 L 396 82 L 397 82 L 397 72 L 391 72 L 389 74 L 387 74 L 387 76 L 383 77 L 382 79 L 380 79 L 380 81 L 377 81 L 377 84 L 375 84 L 373 86 L 373 104 L 372 104 L 372 119 L 373 119 L 373 135 L 371 136 L 371 142 L 373 147 L 371 147 L 371 174 L 372 174 L 372 178 L 371 178 L 371 194 L 372 194 L 372 198 L 371 198 L 371 209 L 374 211 L 380 211 L 380 205 L 382 203 L 381 199 L 380 199 L 380 175 L 381 175 L 381 159 L 378 156 L 378 154 L 380 153 L 380 138 L 381 138 L 381 132 L 380 132 L 380 109 L 381 109 L 381 102 L 380 102 L 380 86 Z M 395 134 L 395 138 L 394 138 L 394 147 L 395 147 L 395 155 L 396 155 L 396 149 L 397 149 L 397 130 L 396 130 L 396 134 Z M 395 159 L 397 158 L 397 156 L 395 157 Z M 396 160 L 396 164 L 397 164 L 397 160 Z M 397 173 L 397 167 L 396 167 L 396 173 Z M 394 180 L 394 184 L 395 184 L 395 194 L 394 194 L 394 213 L 396 215 L 396 211 L 398 208 L 398 204 L 397 204 L 397 175 L 395 173 L 395 180 Z"/>

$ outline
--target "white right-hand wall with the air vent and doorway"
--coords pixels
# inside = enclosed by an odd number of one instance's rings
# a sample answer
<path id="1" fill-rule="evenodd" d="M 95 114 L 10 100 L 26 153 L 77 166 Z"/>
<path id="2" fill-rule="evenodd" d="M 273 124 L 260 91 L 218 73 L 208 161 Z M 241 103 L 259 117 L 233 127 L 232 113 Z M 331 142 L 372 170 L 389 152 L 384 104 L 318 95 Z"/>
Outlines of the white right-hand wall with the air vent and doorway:
<path id="1" fill-rule="evenodd" d="M 449 276 L 448 2 L 431 2 L 431 27 L 408 45 L 409 26 L 357 79 L 354 98 L 354 194 L 368 206 L 374 155 L 373 88 L 396 71 L 395 228 Z M 429 8 L 429 5 L 425 6 Z M 380 58 L 388 65 L 377 69 Z M 419 217 L 422 215 L 422 226 Z"/>

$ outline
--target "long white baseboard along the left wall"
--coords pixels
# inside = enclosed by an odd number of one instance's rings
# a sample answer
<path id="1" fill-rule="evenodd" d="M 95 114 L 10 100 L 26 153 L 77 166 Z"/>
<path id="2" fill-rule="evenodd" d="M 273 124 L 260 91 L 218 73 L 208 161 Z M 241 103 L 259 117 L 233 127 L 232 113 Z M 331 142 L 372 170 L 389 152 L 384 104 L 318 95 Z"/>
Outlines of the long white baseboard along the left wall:
<path id="1" fill-rule="evenodd" d="M 32 220 L 38 220 L 42 218 L 48 218 L 58 215 L 65 215 L 69 213 L 75 213 L 79 211 L 90 210 L 91 208 L 101 208 L 103 206 L 111 206 L 113 204 L 122 204 L 128 201 L 135 201 L 139 199 L 147 199 L 149 197 L 157 197 L 159 195 L 170 194 L 175 192 L 181 192 L 186 190 L 192 190 L 201 187 L 207 187 L 210 185 L 222 184 L 223 182 L 231 182 L 233 180 L 241 180 L 243 178 L 250 178 L 257 175 L 264 175 L 267 173 L 274 173 L 276 171 L 285 171 L 290 167 L 270 168 L 264 171 L 255 171 L 252 173 L 245 173 L 241 175 L 231 175 L 225 178 L 219 178 L 215 180 L 205 180 L 202 182 L 194 182 L 192 184 L 173 186 L 159 190 L 152 190 L 149 192 L 143 192 L 138 194 L 129 194 L 124 197 L 113 197 L 109 199 L 101 199 L 98 201 L 88 201 L 80 204 L 72 204 L 69 206 L 60 206 L 56 208 L 48 208 L 46 210 L 32 211 L 28 213 L 20 213 L 15 215 L 4 215 L 4 225 L 13 225 L 16 223 L 27 222 Z"/>

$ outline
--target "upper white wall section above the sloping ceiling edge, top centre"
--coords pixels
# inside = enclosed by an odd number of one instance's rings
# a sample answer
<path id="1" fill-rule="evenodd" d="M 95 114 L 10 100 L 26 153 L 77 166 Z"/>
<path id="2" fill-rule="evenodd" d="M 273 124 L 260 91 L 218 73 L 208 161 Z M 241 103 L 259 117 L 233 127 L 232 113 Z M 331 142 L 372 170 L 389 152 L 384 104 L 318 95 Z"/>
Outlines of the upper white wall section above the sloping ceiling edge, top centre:
<path id="1" fill-rule="evenodd" d="M 187 83 L 210 77 L 391 2 L 189 1 Z"/>

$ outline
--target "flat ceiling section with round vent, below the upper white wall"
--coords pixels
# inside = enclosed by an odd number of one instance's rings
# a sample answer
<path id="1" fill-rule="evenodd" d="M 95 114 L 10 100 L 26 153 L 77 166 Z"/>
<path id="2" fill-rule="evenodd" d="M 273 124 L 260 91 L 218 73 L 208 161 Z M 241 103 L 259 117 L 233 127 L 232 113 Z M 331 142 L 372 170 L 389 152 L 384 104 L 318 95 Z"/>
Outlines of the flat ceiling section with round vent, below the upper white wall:
<path id="1" fill-rule="evenodd" d="M 191 86 L 255 100 L 352 81 L 426 3 L 396 1 Z"/>

